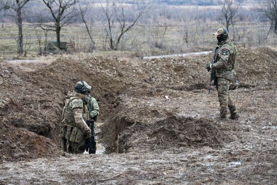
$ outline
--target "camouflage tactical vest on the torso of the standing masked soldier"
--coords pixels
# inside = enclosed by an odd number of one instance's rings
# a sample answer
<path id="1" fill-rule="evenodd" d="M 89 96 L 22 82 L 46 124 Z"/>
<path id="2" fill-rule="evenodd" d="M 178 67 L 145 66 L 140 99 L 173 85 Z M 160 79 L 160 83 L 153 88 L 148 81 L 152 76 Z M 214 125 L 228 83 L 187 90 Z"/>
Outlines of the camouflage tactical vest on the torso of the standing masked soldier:
<path id="1" fill-rule="evenodd" d="M 233 79 L 233 74 L 234 74 L 234 66 L 235 66 L 235 62 L 236 62 L 237 48 L 234 45 L 233 41 L 231 39 L 228 39 L 225 41 L 225 43 L 223 43 L 219 47 L 218 51 L 220 51 L 222 49 L 222 47 L 226 46 L 226 45 L 228 45 L 232 49 L 233 53 L 230 53 L 231 56 L 228 59 L 227 65 L 222 69 L 216 70 L 216 77 L 222 77 L 222 78 L 225 78 L 225 79 L 228 79 L 231 81 Z M 216 61 L 219 61 L 219 60 L 220 60 L 220 57 L 219 57 L 219 52 L 218 52 Z"/>

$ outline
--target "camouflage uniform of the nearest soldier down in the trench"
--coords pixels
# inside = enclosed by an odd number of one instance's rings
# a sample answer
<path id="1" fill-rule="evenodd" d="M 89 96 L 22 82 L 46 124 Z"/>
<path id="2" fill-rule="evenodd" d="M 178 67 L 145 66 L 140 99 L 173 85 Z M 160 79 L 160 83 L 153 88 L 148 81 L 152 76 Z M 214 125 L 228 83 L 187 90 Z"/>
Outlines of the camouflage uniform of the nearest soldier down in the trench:
<path id="1" fill-rule="evenodd" d="M 81 151 L 79 147 L 86 142 L 84 134 L 91 136 L 91 130 L 86 124 L 89 119 L 88 105 L 80 96 L 87 97 L 75 91 L 69 91 L 63 107 L 59 140 L 61 149 L 68 153 L 83 153 L 85 150 Z"/>

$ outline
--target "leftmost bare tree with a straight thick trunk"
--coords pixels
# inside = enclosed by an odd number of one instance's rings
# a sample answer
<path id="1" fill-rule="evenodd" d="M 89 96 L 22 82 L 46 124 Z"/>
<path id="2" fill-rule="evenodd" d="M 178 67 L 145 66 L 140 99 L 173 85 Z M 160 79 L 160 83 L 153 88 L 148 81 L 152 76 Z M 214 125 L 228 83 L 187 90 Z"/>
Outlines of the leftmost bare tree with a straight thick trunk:
<path id="1" fill-rule="evenodd" d="M 9 11 L 8 16 L 15 18 L 18 27 L 18 54 L 23 54 L 23 19 L 22 10 L 31 0 L 0 0 L 0 10 Z"/>

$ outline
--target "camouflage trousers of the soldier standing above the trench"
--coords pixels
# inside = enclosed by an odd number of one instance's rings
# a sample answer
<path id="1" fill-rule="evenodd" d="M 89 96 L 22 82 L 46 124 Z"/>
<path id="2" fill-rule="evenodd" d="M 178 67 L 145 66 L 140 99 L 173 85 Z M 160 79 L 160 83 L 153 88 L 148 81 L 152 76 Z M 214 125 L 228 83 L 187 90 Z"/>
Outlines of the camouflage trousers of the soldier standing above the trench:
<path id="1" fill-rule="evenodd" d="M 220 115 L 225 118 L 227 114 L 227 108 L 229 107 L 230 113 L 234 114 L 237 111 L 236 106 L 233 102 L 232 96 L 229 92 L 230 81 L 225 78 L 217 79 L 218 83 L 218 99 L 220 104 Z"/>

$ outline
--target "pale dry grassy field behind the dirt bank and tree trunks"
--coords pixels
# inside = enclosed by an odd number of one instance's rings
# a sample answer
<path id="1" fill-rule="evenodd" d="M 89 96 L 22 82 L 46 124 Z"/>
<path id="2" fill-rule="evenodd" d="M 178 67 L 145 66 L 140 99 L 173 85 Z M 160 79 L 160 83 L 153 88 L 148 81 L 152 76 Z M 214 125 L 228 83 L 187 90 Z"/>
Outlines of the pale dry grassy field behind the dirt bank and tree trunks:
<path id="1" fill-rule="evenodd" d="M 100 23 L 99 23 L 100 24 Z M 95 25 L 99 25 L 95 24 Z M 127 32 L 116 51 L 109 50 L 105 33 L 98 26 L 94 26 L 92 33 L 95 39 L 96 50 L 93 54 L 86 52 L 89 37 L 83 24 L 73 24 L 62 28 L 61 41 L 74 41 L 79 56 L 108 55 L 108 56 L 149 56 L 170 53 L 184 53 L 211 50 L 216 44 L 212 35 L 217 28 L 222 27 L 218 22 L 190 22 L 180 26 L 177 22 L 167 26 L 136 25 Z M 265 40 L 266 27 L 255 23 L 240 23 L 231 30 L 230 35 L 235 35 L 236 42 L 246 46 L 276 46 L 277 38 L 270 34 Z M 38 37 L 45 42 L 45 34 L 40 28 L 34 29 L 33 25 L 24 24 L 24 49 L 28 50 L 28 57 L 35 57 L 39 53 Z M 187 33 L 187 42 L 184 35 Z M 116 30 L 115 33 L 116 34 Z M 17 26 L 4 23 L 0 27 L 0 54 L 2 58 L 13 58 L 17 54 Z M 56 40 L 55 32 L 47 33 L 47 41 Z M 155 43 L 158 43 L 155 45 Z M 158 45 L 158 46 L 157 46 Z M 43 47 L 43 46 L 42 46 Z M 78 54 L 77 54 L 78 55 Z"/>

